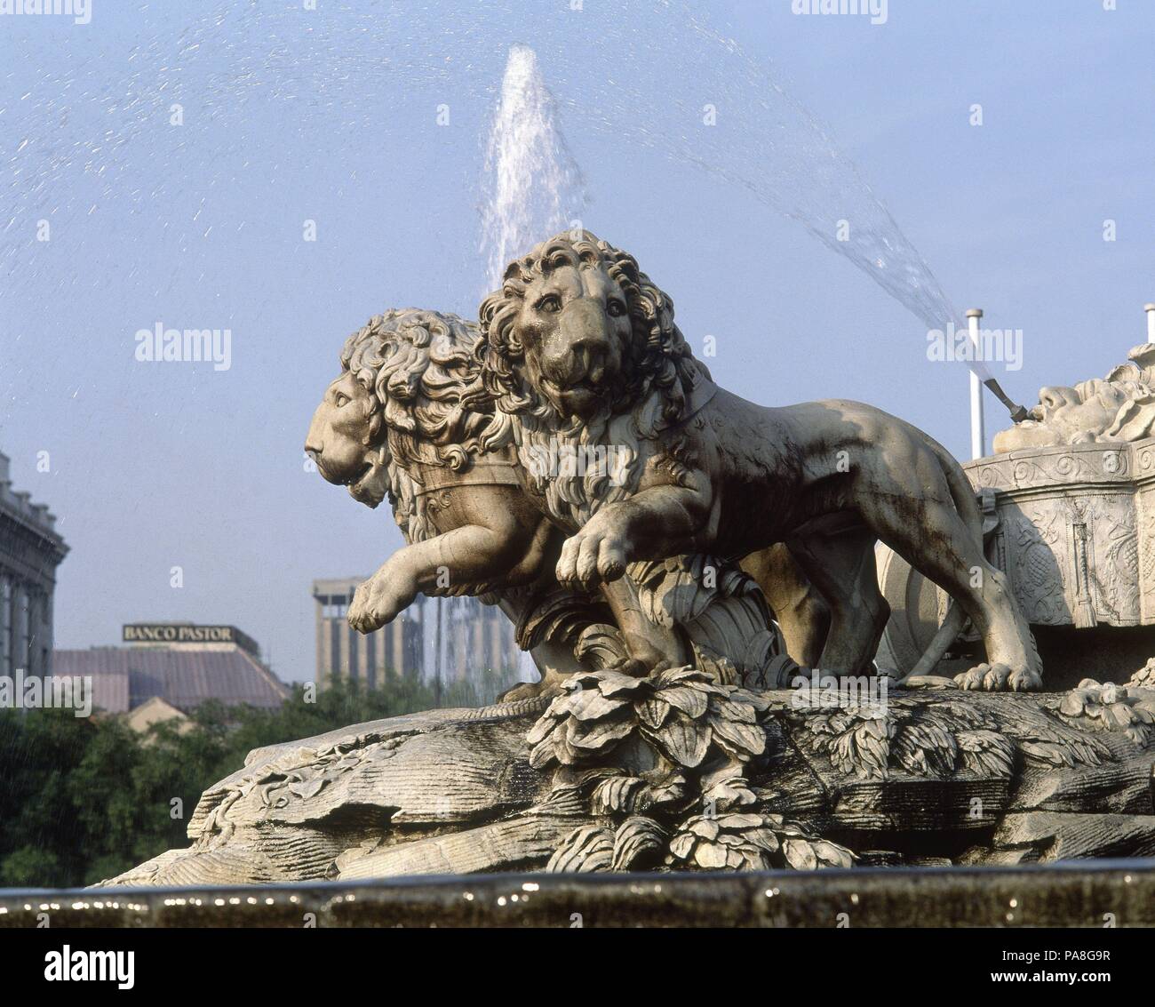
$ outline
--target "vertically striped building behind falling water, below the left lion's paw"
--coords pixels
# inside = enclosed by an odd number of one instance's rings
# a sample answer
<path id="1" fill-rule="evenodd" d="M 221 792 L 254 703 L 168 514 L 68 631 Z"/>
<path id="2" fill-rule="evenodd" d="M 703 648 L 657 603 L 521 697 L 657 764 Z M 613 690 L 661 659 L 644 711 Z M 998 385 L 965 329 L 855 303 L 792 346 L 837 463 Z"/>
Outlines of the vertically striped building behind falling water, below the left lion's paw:
<path id="1" fill-rule="evenodd" d="M 316 680 L 334 674 L 375 686 L 386 674 L 417 674 L 429 681 L 479 684 L 489 672 L 513 678 L 521 651 L 509 620 L 477 598 L 418 595 L 404 612 L 375 633 L 362 635 L 346 621 L 364 577 L 313 582 L 316 605 Z"/>

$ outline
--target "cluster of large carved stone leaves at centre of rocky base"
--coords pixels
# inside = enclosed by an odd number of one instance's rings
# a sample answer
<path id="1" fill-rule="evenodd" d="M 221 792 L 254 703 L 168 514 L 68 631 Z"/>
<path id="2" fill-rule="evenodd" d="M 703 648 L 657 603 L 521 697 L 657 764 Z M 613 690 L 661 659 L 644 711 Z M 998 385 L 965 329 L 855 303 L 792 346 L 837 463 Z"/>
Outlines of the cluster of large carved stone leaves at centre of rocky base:
<path id="1" fill-rule="evenodd" d="M 782 815 L 744 812 L 766 751 L 766 693 L 692 669 L 575 676 L 529 732 L 530 764 L 589 790 L 599 825 L 574 829 L 547 871 L 850 866 L 849 850 Z"/>

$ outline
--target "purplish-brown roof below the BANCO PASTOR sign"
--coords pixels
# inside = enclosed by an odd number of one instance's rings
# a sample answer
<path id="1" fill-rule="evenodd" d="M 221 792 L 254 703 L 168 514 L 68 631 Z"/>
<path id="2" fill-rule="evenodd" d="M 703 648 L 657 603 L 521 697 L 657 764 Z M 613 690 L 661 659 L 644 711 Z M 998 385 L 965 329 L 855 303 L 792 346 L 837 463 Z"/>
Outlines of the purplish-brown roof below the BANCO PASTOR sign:
<path id="1" fill-rule="evenodd" d="M 152 696 L 188 713 L 206 700 L 278 707 L 288 694 L 273 672 L 240 648 L 57 650 L 52 673 L 91 676 L 94 707 L 113 714 L 136 709 Z"/>

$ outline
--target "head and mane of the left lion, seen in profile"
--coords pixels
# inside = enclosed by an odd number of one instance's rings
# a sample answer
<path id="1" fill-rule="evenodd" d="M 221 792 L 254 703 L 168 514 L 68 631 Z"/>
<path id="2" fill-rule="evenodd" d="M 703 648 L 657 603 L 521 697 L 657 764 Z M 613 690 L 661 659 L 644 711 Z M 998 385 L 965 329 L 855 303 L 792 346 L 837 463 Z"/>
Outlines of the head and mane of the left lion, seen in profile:
<path id="1" fill-rule="evenodd" d="M 329 483 L 377 507 L 386 495 L 411 542 L 427 537 L 415 465 L 467 469 L 508 442 L 477 360 L 477 326 L 456 315 L 392 309 L 353 333 L 305 450 Z"/>

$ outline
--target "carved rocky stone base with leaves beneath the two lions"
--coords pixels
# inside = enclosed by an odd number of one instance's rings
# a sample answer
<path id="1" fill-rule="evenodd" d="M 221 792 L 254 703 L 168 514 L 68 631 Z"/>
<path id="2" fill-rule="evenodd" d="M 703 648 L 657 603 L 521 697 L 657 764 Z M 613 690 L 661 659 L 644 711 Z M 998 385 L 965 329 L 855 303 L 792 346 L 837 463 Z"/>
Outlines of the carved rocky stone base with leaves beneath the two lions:
<path id="1" fill-rule="evenodd" d="M 105 883 L 1148 856 L 1152 682 L 835 702 L 732 666 L 578 674 L 253 752 L 188 849 Z"/>

